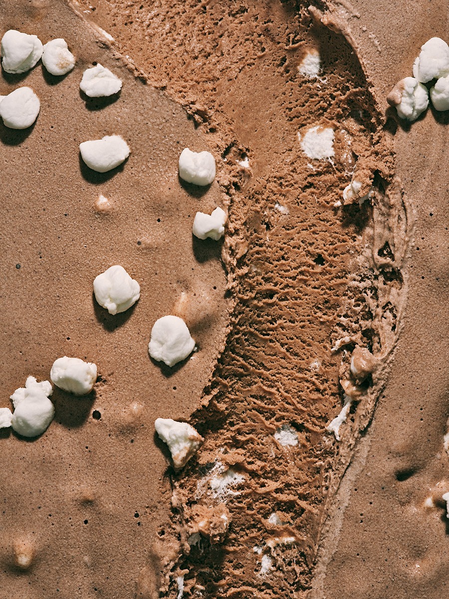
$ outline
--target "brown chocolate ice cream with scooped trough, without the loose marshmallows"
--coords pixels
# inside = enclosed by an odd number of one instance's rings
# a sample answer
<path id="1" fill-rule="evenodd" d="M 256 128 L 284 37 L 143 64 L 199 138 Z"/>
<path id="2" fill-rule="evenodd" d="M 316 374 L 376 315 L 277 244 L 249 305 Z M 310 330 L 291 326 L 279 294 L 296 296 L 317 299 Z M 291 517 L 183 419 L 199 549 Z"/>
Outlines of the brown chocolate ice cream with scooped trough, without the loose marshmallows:
<path id="1" fill-rule="evenodd" d="M 402 56 L 364 0 L 5 3 L 1 34 L 76 63 L 0 80 L 41 102 L 0 124 L 0 407 L 60 356 L 98 367 L 89 395 L 54 388 L 40 437 L 0 431 L 5 597 L 444 596 L 447 233 L 422 148 L 447 119 L 385 100 L 426 10 Z M 80 91 L 97 64 L 120 92 Z M 96 173 L 79 146 L 107 135 L 131 153 Z M 180 179 L 184 148 L 213 183 Z M 224 237 L 192 236 L 217 207 Z M 92 287 L 113 265 L 140 286 L 119 314 Z M 195 340 L 173 367 L 148 355 L 166 315 Z M 204 440 L 183 468 L 157 418 Z"/>

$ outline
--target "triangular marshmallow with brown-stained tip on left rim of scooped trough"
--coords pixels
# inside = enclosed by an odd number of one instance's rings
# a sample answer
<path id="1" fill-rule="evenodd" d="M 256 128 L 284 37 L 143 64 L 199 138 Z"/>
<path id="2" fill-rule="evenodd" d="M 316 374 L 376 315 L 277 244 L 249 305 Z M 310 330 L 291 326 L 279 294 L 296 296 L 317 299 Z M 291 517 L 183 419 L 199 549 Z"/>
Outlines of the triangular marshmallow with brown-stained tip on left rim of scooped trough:
<path id="1" fill-rule="evenodd" d="M 177 422 L 171 418 L 158 418 L 154 422 L 157 434 L 168 445 L 173 465 L 183 468 L 198 451 L 204 439 L 193 426 L 187 422 Z"/>

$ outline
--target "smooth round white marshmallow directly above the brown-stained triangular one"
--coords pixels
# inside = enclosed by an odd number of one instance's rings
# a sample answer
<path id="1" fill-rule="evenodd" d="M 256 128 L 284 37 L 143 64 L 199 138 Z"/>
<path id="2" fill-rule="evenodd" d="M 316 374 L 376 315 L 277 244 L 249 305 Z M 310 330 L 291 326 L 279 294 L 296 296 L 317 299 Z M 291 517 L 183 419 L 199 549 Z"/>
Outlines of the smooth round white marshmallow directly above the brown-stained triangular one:
<path id="1" fill-rule="evenodd" d="M 148 352 L 157 362 L 174 366 L 192 353 L 195 341 L 184 320 L 178 316 L 162 316 L 151 329 Z"/>

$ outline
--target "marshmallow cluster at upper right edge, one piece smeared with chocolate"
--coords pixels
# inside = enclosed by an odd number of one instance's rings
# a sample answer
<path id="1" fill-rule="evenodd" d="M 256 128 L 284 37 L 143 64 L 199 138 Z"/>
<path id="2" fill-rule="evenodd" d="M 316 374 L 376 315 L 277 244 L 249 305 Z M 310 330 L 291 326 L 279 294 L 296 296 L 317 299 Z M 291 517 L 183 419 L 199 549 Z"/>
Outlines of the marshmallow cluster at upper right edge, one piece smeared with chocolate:
<path id="1" fill-rule="evenodd" d="M 387 102 L 396 107 L 401 119 L 416 120 L 429 105 L 449 110 L 449 46 L 441 38 L 430 38 L 421 46 L 413 64 L 413 77 L 405 77 L 393 87 Z M 429 92 L 424 83 L 435 81 Z"/>

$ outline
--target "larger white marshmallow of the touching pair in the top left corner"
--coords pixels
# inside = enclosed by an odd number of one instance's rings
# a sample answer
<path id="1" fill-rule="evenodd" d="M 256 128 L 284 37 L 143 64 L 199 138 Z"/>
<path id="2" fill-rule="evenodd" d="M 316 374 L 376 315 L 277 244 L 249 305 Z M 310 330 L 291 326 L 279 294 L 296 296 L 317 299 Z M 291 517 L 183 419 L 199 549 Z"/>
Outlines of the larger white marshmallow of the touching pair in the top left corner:
<path id="1" fill-rule="evenodd" d="M 0 54 L 2 66 L 8 73 L 24 73 L 41 58 L 43 45 L 37 35 L 23 34 L 10 29 L 2 37 Z"/>

